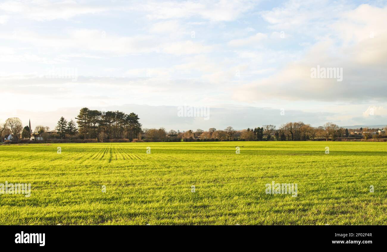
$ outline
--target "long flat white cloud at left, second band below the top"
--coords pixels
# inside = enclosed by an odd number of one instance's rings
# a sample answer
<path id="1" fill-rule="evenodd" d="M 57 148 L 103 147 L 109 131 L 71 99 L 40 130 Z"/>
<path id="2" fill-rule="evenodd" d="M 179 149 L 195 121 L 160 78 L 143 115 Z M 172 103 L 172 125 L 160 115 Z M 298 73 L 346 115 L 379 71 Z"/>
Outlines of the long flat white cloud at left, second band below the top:
<path id="1" fill-rule="evenodd" d="M 99 51 L 115 54 L 140 54 L 162 52 L 174 55 L 199 54 L 212 51 L 212 46 L 192 41 L 163 42 L 151 35 L 137 35 L 132 37 L 117 36 L 103 30 L 77 29 L 68 30 L 67 36 L 47 36 L 33 32 L 17 32 L 0 34 L 0 38 L 35 44 L 40 47 L 73 48 L 82 51 Z"/>

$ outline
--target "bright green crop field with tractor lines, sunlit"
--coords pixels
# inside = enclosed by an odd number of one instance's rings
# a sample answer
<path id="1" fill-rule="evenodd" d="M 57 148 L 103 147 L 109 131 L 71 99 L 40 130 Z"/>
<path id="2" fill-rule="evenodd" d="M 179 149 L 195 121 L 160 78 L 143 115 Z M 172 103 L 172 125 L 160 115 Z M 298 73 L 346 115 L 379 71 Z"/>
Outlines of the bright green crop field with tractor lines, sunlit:
<path id="1" fill-rule="evenodd" d="M 387 224 L 379 142 L 1 145 L 0 171 L 31 183 L 0 194 L 0 225 Z M 297 196 L 266 194 L 272 181 Z"/>

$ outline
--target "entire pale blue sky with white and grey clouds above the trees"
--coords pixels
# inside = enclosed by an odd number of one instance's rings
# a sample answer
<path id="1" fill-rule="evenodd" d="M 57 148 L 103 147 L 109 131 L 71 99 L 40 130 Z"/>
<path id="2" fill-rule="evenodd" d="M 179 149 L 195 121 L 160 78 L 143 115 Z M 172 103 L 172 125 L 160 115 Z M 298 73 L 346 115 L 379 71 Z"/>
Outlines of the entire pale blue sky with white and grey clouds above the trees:
<path id="1" fill-rule="evenodd" d="M 386 17 L 386 1 L 1 1 L 0 122 L 53 129 L 89 107 L 168 130 L 386 124 Z"/>

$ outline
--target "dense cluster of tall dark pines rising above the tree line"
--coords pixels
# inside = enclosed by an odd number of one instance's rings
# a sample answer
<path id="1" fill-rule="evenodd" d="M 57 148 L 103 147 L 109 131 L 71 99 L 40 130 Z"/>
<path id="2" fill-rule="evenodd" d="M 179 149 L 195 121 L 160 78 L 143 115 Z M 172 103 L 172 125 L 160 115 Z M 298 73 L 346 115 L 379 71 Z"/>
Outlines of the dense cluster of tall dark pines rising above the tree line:
<path id="1" fill-rule="evenodd" d="M 141 132 L 141 123 L 135 113 L 120 111 L 98 111 L 82 108 L 76 117 L 79 133 L 84 139 L 130 139 Z"/>

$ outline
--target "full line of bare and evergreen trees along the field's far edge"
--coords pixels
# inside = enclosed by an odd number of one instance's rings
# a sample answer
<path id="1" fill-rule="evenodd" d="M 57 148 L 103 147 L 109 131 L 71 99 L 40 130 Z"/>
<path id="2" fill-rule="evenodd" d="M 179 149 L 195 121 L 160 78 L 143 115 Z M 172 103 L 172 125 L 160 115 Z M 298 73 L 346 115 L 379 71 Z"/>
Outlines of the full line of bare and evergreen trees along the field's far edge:
<path id="1" fill-rule="evenodd" d="M 210 128 L 207 131 L 202 129 L 170 130 L 167 132 L 164 128 L 142 129 L 139 122 L 140 118 L 135 113 L 126 114 L 120 111 L 99 111 L 82 108 L 79 115 L 74 120 L 66 120 L 61 117 L 55 127 L 55 132 L 49 131 L 49 127 L 38 125 L 33 134 L 39 135 L 40 140 L 48 139 L 81 139 L 96 140 L 104 142 L 106 140 L 124 140 L 142 142 L 179 142 L 179 141 L 302 141 L 302 140 L 336 140 L 337 138 L 348 138 L 350 136 L 348 129 L 343 129 L 338 125 L 327 122 L 320 127 L 312 127 L 303 122 L 288 122 L 282 124 L 278 129 L 275 125 L 262 125 L 262 127 L 247 128 L 245 130 L 235 130 L 233 127 L 226 127 L 224 130 Z M 376 130 L 376 129 L 372 129 Z M 382 134 L 370 129 L 360 128 L 350 129 L 351 137 L 354 138 L 381 138 L 385 137 L 385 131 Z M 28 126 L 23 127 L 19 118 L 8 118 L 4 124 L 0 125 L 1 140 L 7 134 L 12 134 L 14 140 L 30 139 L 31 133 Z"/>

